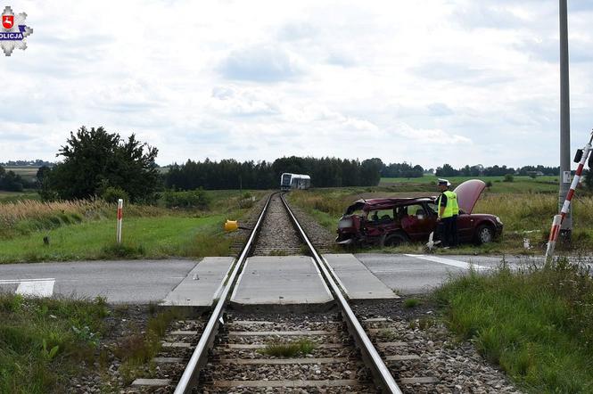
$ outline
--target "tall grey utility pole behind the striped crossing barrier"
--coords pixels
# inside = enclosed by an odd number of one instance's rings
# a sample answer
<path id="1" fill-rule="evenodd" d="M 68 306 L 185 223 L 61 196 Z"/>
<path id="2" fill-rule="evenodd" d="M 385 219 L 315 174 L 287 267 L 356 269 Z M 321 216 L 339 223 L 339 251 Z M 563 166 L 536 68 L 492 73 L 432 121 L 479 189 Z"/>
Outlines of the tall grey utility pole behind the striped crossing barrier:
<path id="1" fill-rule="evenodd" d="M 571 113 L 568 78 L 568 11 L 566 0 L 560 1 L 560 192 L 558 208 L 564 203 L 571 185 Z M 570 242 L 572 232 L 571 211 L 564 218 L 560 237 Z"/>

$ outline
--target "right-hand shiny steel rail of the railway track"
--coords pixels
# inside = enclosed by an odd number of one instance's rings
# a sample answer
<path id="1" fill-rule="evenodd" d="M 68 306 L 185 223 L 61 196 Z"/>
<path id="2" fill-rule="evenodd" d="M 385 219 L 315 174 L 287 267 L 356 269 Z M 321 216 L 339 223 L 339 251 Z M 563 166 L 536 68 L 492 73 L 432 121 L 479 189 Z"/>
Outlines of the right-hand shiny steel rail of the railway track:
<path id="1" fill-rule="evenodd" d="M 299 234 L 301 235 L 302 241 L 307 243 L 309 250 L 313 254 L 313 259 L 315 260 L 317 267 L 321 270 L 325 277 L 325 282 L 329 284 L 329 287 L 334 294 L 334 299 L 337 300 L 339 307 L 342 309 L 342 316 L 344 317 L 346 324 L 348 325 L 348 329 L 352 337 L 354 337 L 354 341 L 358 345 L 358 349 L 362 353 L 362 357 L 367 362 L 367 365 L 371 369 L 371 373 L 375 377 L 375 382 L 379 385 L 383 392 L 387 393 L 394 393 L 394 394 L 402 394 L 402 391 L 399 389 L 398 384 L 393 379 L 393 376 L 389 372 L 387 365 L 383 363 L 383 359 L 377 353 L 375 346 L 368 338 L 367 332 L 362 327 L 360 322 L 358 322 L 358 318 L 354 315 L 354 312 L 350 308 L 348 301 L 342 295 L 342 291 L 340 287 L 335 282 L 334 277 L 330 274 L 329 269 L 327 267 L 327 262 L 325 259 L 322 259 L 317 250 L 313 246 L 313 244 L 309 241 L 309 237 L 305 234 L 305 231 L 299 224 L 299 221 L 294 217 L 292 213 L 292 209 L 288 206 L 288 203 L 284 200 L 284 194 L 281 194 L 282 202 L 284 203 L 284 208 L 288 212 L 289 216 L 291 217 L 292 224 L 297 228 Z"/>

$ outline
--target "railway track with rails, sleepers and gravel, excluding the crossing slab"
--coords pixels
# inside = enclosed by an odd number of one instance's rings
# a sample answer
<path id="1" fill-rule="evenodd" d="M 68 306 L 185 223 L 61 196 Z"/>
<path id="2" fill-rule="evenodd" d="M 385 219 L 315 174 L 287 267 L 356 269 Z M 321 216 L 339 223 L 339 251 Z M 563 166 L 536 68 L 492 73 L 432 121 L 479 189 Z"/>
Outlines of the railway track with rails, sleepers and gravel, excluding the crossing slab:
<path id="1" fill-rule="evenodd" d="M 333 293 L 337 316 L 226 314 L 245 260 L 262 254 L 315 259 Z M 200 339 L 189 340 L 194 352 L 176 393 L 401 392 L 281 193 L 268 198 L 210 319 L 194 333 Z M 275 357 L 278 353 L 284 357 Z"/>

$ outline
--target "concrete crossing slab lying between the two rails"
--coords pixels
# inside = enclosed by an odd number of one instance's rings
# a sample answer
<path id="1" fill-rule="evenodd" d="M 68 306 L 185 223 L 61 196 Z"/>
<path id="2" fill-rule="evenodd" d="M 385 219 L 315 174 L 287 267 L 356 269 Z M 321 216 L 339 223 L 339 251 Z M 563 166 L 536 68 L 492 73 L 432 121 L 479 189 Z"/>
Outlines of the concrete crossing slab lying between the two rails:
<path id="1" fill-rule="evenodd" d="M 231 301 L 239 305 L 325 304 L 334 300 L 308 256 L 256 256 L 245 261 Z"/>

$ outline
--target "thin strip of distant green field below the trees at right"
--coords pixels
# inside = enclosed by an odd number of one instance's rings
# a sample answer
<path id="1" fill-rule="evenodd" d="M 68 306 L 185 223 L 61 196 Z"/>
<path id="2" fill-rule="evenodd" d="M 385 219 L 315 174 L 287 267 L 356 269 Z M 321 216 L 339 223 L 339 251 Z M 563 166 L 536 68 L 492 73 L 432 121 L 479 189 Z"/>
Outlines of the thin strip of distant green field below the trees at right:
<path id="1" fill-rule="evenodd" d="M 419 178 L 381 178 L 382 186 L 400 186 L 402 191 L 406 191 L 407 187 L 420 186 L 422 190 L 427 188 L 435 188 L 438 176 L 423 176 Z M 468 179 L 482 179 L 488 183 L 491 182 L 490 193 L 557 193 L 558 184 L 557 176 L 538 176 L 531 178 L 530 176 L 514 176 L 513 182 L 504 182 L 504 176 L 449 176 L 447 177 L 453 187 L 465 182 Z M 414 187 L 416 186 L 416 187 Z M 410 190 L 412 191 L 412 190 Z"/>

